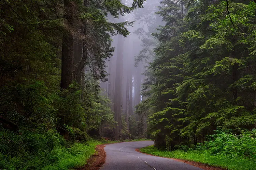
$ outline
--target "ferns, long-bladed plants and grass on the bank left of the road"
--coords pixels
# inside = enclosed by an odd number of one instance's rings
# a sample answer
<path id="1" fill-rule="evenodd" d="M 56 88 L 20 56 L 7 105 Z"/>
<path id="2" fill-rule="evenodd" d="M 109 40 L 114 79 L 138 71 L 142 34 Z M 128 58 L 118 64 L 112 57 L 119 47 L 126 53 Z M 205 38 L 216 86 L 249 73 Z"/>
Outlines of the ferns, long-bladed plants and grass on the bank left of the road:
<path id="1" fill-rule="evenodd" d="M 68 169 L 86 164 L 103 142 L 69 143 L 53 130 L 0 130 L 0 169 Z"/>

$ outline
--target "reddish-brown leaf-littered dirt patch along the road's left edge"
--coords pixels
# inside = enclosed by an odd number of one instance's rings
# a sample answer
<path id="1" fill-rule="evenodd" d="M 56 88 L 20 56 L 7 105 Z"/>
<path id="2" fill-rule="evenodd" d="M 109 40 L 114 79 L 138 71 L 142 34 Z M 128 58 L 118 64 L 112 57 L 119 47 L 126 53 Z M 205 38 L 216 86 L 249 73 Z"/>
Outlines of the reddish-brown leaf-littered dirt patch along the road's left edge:
<path id="1" fill-rule="evenodd" d="M 97 145 L 96 152 L 88 160 L 87 164 L 84 167 L 77 168 L 76 170 L 98 170 L 105 163 L 106 152 L 104 147 L 107 144 Z"/>

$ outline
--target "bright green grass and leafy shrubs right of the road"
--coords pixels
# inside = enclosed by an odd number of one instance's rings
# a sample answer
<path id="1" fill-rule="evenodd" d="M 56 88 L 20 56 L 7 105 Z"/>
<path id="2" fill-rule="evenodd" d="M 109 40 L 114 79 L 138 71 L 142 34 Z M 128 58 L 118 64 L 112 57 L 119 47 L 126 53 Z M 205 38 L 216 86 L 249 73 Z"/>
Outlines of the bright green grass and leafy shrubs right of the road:
<path id="1" fill-rule="evenodd" d="M 177 145 L 175 150 L 159 150 L 154 146 L 141 148 L 140 151 L 156 156 L 191 160 L 230 170 L 256 169 L 256 130 L 241 131 L 236 136 L 229 131 L 217 130 L 208 140 L 189 148 Z"/>

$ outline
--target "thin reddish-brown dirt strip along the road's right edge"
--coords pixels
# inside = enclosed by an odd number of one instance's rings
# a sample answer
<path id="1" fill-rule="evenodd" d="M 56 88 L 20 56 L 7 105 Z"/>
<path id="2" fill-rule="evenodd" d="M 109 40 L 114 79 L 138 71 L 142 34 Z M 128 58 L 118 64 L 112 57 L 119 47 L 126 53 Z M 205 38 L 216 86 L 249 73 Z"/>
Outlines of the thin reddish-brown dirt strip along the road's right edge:
<path id="1" fill-rule="evenodd" d="M 143 153 L 139 149 L 135 149 L 135 150 L 137 152 Z M 147 154 L 147 153 L 143 153 L 143 154 Z M 147 155 L 151 155 L 151 154 L 147 154 Z M 155 156 L 155 155 L 152 155 L 152 156 Z M 158 157 L 161 157 L 161 156 L 158 156 Z M 204 169 L 204 170 L 226 170 L 226 169 L 221 168 L 221 167 L 213 167 L 213 166 L 210 166 L 210 165 L 207 165 L 207 164 L 194 162 L 194 161 L 190 161 L 190 160 L 174 159 L 174 158 L 168 158 L 168 159 L 176 160 L 176 161 L 179 161 L 179 162 L 184 162 L 186 164 L 193 165 L 195 167 L 198 167 L 198 168 L 201 168 L 201 169 Z"/>

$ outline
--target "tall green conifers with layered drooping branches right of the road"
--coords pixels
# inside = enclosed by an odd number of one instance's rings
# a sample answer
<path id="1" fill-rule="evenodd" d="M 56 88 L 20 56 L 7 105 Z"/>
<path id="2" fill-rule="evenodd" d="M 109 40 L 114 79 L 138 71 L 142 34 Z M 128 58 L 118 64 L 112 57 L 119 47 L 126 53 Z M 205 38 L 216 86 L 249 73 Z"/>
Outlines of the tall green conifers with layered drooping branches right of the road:
<path id="1" fill-rule="evenodd" d="M 159 148 L 205 141 L 218 127 L 253 129 L 256 3 L 162 0 L 166 22 L 153 36 L 156 58 L 147 70 L 140 114 Z"/>

